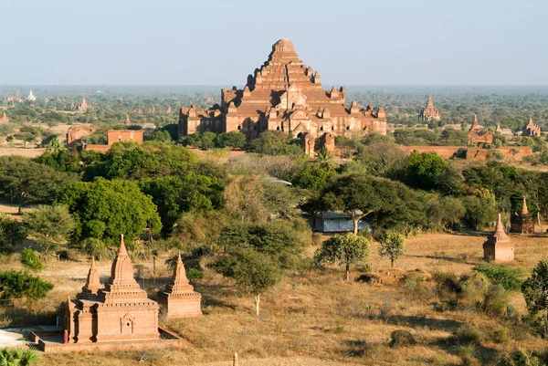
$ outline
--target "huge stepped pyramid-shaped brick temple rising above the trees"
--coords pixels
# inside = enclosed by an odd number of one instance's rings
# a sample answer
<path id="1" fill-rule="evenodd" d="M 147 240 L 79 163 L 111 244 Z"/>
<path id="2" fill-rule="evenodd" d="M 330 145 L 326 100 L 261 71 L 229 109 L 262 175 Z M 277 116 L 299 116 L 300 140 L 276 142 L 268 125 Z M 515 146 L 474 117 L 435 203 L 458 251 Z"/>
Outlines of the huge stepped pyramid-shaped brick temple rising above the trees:
<path id="1" fill-rule="evenodd" d="M 248 140 L 262 131 L 284 131 L 313 139 L 325 134 L 353 136 L 369 132 L 386 134 L 384 108 L 362 109 L 346 105 L 346 89 L 324 90 L 318 71 L 299 59 L 293 42 L 280 39 L 269 59 L 248 76 L 244 89 L 222 89 L 221 104 L 208 110 L 183 107 L 179 135 L 212 131 L 240 131 Z"/>

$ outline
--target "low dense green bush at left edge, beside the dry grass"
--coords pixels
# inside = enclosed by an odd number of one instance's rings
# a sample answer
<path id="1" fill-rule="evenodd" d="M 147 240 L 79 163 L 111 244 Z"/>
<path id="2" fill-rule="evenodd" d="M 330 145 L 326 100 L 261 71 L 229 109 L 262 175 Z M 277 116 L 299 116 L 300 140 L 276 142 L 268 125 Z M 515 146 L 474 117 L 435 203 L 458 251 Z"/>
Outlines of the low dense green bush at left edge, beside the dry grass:
<path id="1" fill-rule="evenodd" d="M 10 269 L 0 272 L 0 298 L 26 298 L 37 300 L 45 298 L 53 284 L 27 272 Z"/>

